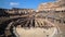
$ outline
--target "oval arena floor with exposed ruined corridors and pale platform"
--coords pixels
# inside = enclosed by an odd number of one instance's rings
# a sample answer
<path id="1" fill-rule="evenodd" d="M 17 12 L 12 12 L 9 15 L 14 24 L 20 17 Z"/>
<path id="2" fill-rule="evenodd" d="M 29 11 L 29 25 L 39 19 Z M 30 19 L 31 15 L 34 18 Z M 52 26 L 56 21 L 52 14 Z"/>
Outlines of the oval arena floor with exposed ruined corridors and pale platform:
<path id="1" fill-rule="evenodd" d="M 41 16 L 41 13 L 32 13 L 20 18 L 11 20 L 5 27 L 5 37 L 57 37 L 60 29 L 51 21 Z"/>

